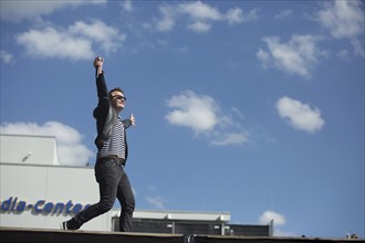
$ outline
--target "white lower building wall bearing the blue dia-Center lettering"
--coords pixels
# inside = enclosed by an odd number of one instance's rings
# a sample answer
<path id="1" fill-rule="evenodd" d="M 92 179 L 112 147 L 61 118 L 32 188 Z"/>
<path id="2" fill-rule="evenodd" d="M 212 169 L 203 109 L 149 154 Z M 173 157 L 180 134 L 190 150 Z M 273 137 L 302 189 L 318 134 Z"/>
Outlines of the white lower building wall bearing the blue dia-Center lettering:
<path id="1" fill-rule="evenodd" d="M 0 163 L 0 226 L 59 229 L 60 222 L 72 216 L 66 213 L 67 203 L 72 211 L 75 204 L 93 204 L 100 198 L 93 168 Z M 56 203 L 65 205 L 62 213 L 54 213 Z M 82 229 L 111 231 L 111 213 Z"/>

